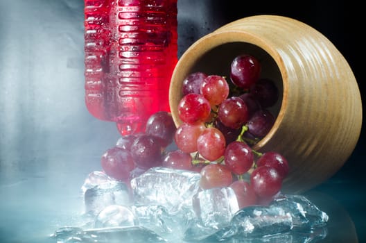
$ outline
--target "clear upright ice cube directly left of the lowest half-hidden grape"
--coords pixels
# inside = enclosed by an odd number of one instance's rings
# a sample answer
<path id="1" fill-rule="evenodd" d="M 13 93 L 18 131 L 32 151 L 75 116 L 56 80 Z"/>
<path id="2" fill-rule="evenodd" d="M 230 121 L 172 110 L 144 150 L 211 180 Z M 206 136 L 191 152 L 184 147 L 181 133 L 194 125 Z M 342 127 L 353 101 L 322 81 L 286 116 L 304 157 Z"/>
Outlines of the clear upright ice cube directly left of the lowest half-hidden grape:
<path id="1" fill-rule="evenodd" d="M 214 187 L 193 196 L 193 208 L 202 226 L 223 228 L 239 210 L 238 201 L 231 187 Z"/>

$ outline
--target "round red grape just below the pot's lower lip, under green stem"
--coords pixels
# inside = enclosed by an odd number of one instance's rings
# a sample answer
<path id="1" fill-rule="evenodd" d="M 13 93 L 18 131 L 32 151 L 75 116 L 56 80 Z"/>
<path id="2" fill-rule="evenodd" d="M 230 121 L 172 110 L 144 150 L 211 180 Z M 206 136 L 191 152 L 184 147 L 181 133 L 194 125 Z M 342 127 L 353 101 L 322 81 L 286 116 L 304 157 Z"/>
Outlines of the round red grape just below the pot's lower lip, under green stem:
<path id="1" fill-rule="evenodd" d="M 234 141 L 225 149 L 225 165 L 236 175 L 249 171 L 254 162 L 250 146 L 245 142 Z"/>

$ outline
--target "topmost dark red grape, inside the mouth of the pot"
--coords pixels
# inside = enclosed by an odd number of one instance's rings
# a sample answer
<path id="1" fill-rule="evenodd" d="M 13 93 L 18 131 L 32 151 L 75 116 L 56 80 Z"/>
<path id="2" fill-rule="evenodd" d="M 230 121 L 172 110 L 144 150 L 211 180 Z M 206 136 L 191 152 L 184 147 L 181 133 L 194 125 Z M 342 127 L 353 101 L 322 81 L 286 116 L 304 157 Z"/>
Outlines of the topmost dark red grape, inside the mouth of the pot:
<path id="1" fill-rule="evenodd" d="M 230 79 L 234 85 L 247 89 L 258 80 L 260 74 L 261 64 L 254 56 L 244 54 L 232 60 Z"/>

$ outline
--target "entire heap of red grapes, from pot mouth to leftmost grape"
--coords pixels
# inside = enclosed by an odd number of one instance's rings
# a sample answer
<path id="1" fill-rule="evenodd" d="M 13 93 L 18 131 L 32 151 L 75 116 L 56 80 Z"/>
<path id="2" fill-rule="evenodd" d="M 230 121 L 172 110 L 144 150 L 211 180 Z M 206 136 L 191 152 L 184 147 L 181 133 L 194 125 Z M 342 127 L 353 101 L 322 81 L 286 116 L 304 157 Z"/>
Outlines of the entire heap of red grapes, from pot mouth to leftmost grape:
<path id="1" fill-rule="evenodd" d="M 288 162 L 279 153 L 252 149 L 272 127 L 275 117 L 267 108 L 278 99 L 277 87 L 260 72 L 256 58 L 241 55 L 232 62 L 231 83 L 190 74 L 177 109 L 182 124 L 176 128 L 169 112 L 153 114 L 144 133 L 121 137 L 105 151 L 105 174 L 129 185 L 151 167 L 187 169 L 200 172 L 202 190 L 232 187 L 241 208 L 270 201 L 281 190 Z"/>

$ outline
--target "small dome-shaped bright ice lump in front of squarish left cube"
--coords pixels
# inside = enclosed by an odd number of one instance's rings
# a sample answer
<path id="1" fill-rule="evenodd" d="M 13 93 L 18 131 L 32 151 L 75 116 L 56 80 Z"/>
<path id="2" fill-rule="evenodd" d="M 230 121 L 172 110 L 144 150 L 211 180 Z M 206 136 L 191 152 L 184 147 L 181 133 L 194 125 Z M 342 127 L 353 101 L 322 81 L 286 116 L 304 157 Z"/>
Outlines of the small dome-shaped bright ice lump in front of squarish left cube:
<path id="1" fill-rule="evenodd" d="M 137 219 L 130 208 L 120 205 L 110 205 L 96 215 L 94 228 L 135 226 Z"/>

